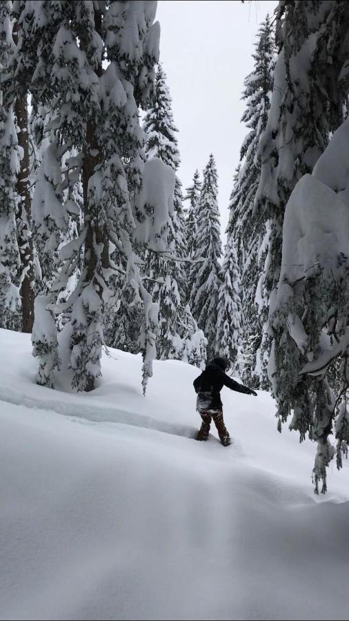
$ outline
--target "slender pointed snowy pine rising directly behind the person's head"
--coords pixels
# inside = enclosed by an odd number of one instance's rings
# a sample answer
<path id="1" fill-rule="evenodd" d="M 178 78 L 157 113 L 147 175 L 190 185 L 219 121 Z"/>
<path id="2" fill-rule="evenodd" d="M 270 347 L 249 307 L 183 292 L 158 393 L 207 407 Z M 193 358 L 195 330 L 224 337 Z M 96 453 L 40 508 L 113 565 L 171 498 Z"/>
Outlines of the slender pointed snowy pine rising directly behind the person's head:
<path id="1" fill-rule="evenodd" d="M 208 339 L 208 357 L 216 352 L 217 308 L 222 282 L 221 236 L 217 204 L 217 168 L 213 155 L 203 170 L 203 184 L 198 206 L 197 248 L 195 259 L 203 262 L 192 265 L 190 307 L 199 328 Z"/>

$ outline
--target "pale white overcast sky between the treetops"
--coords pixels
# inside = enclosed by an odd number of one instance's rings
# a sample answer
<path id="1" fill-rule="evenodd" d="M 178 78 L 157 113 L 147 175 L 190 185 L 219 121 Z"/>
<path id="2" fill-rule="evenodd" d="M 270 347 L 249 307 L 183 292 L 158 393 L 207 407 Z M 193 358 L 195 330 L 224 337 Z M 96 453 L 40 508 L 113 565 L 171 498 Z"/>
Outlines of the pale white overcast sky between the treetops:
<path id="1" fill-rule="evenodd" d="M 240 123 L 243 79 L 253 68 L 255 34 L 276 0 L 159 0 L 160 60 L 179 129 L 183 190 L 210 152 L 219 175 L 221 231 L 228 224 L 232 177 L 246 135 Z M 225 241 L 226 236 L 223 235 Z"/>

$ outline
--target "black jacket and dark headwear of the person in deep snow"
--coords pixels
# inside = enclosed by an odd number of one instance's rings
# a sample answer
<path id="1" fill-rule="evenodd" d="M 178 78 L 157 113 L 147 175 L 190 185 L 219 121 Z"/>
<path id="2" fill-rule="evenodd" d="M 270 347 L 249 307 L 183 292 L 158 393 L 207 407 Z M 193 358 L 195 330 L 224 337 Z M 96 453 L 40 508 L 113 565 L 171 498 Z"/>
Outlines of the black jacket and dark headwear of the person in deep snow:
<path id="1" fill-rule="evenodd" d="M 205 371 L 194 380 L 193 384 L 198 395 L 197 408 L 203 410 L 221 410 L 222 402 L 219 393 L 223 386 L 228 386 L 238 393 L 252 395 L 250 388 L 232 380 L 218 364 L 215 364 L 215 361 L 208 363 Z"/>

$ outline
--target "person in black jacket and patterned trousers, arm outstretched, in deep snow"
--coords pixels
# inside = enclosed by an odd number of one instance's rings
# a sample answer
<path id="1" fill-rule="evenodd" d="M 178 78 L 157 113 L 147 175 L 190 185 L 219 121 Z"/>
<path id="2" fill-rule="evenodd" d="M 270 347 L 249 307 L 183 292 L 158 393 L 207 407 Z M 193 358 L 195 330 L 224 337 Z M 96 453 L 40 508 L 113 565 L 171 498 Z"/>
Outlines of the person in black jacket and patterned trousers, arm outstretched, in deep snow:
<path id="1" fill-rule="evenodd" d="M 223 386 L 228 386 L 232 391 L 237 391 L 238 393 L 255 395 L 257 397 L 257 393 L 252 391 L 251 388 L 235 382 L 229 375 L 226 375 L 228 366 L 229 361 L 226 358 L 215 358 L 208 362 L 205 371 L 193 382 L 195 392 L 197 393 L 197 411 L 202 419 L 197 440 L 208 439 L 212 418 L 217 427 L 219 440 L 221 440 L 223 446 L 230 444 L 230 436 L 223 421 L 223 406 L 221 395 L 219 394 Z"/>

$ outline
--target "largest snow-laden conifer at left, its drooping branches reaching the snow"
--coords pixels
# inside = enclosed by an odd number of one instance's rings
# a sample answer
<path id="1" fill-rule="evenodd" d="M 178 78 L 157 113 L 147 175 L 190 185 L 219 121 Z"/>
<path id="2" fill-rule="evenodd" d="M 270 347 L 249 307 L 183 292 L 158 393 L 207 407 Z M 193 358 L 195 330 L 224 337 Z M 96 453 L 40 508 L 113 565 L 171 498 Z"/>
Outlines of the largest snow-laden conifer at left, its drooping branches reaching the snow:
<path id="1" fill-rule="evenodd" d="M 23 12 L 31 6 L 32 3 L 26 3 Z M 148 168 L 147 181 L 143 175 L 142 189 L 143 132 L 138 106 L 144 107 L 150 96 L 153 66 L 159 53 L 159 24 L 152 23 L 155 10 L 153 1 L 48 3 L 37 7 L 33 32 L 26 30 L 22 41 L 22 48 L 28 47 L 31 40 L 38 43 L 39 58 L 36 64 L 29 63 L 26 79 L 38 101 L 49 104 L 54 112 L 50 128 L 56 130 L 65 148 L 78 151 L 78 156 L 68 162 L 68 170 L 61 170 L 61 179 L 55 180 L 59 190 L 63 190 L 60 212 L 57 201 L 54 202 L 61 219 L 66 219 L 68 211 L 64 192 L 70 170 L 74 174 L 82 170 L 83 228 L 77 239 L 61 248 L 61 265 L 50 291 L 50 304 L 43 305 L 50 313 L 70 312 L 70 322 L 66 324 L 70 335 L 65 342 L 70 348 L 72 383 L 80 390 L 93 388 L 100 374 L 101 319 L 112 293 L 108 277 L 117 269 L 110 262 L 110 242 L 127 257 L 125 278 L 144 301 L 143 386 L 152 373 L 156 353 L 157 305 L 152 304 L 141 282 L 132 249 L 134 240 L 137 244 L 150 243 L 157 250 L 165 249 L 166 222 L 172 204 L 172 172 L 160 162 Z M 24 13 L 21 17 L 25 18 Z M 46 28 L 38 41 L 37 27 L 42 23 Z M 137 33 L 132 45 L 130 32 Z M 109 61 L 106 69 L 101 66 L 104 55 Z M 9 92 L 11 95 L 10 89 Z M 153 186 L 158 188 L 154 196 Z M 43 195 L 40 184 L 36 192 Z M 50 208 L 46 199 L 41 201 L 41 208 Z M 49 213 L 46 224 L 58 217 L 57 213 Z M 81 250 L 83 270 L 77 287 L 65 303 L 55 304 L 54 299 L 57 302 L 77 266 Z"/>

